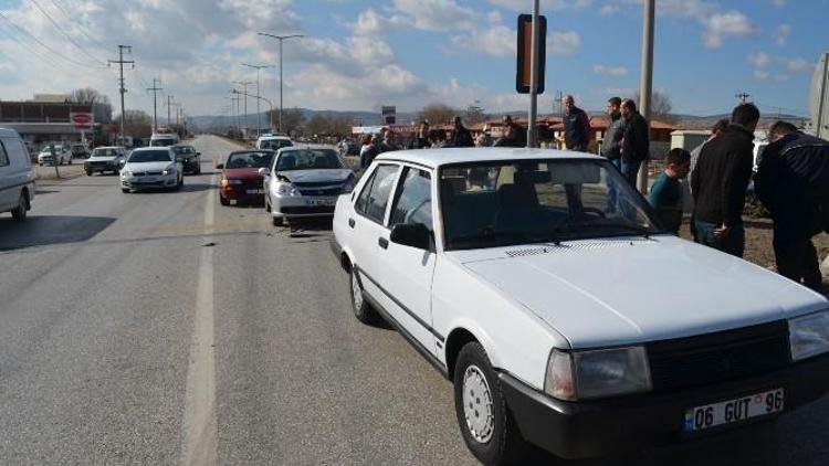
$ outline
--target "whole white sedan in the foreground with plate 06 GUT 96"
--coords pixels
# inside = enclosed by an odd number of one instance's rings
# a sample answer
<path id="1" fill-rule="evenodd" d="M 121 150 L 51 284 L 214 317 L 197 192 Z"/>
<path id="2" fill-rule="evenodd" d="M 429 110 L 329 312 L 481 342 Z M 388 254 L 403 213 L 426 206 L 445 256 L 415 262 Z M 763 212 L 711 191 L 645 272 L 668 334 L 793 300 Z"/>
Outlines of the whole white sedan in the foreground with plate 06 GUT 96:
<path id="1" fill-rule="evenodd" d="M 827 299 L 662 232 L 599 157 L 386 152 L 334 239 L 355 316 L 453 382 L 484 464 L 525 442 L 581 458 L 716 436 L 829 390 Z"/>

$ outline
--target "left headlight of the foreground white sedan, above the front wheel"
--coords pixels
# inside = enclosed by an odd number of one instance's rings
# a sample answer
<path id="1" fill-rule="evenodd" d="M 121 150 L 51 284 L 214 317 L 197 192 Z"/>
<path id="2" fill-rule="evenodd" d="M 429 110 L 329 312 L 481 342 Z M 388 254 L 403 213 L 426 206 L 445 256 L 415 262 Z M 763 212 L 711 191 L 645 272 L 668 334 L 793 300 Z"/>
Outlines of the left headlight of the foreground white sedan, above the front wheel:
<path id="1" fill-rule="evenodd" d="M 550 396 L 570 401 L 648 392 L 648 354 L 644 347 L 553 350 L 544 385 Z"/>

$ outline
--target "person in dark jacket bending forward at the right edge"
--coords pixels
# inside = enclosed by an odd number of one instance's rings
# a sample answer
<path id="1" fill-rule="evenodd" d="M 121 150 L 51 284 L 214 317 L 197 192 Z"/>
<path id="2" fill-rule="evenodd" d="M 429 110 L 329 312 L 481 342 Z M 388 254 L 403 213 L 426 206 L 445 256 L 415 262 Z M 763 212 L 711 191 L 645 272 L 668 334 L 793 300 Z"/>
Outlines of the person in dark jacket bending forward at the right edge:
<path id="1" fill-rule="evenodd" d="M 777 272 L 822 293 L 811 237 L 829 226 L 829 141 L 777 121 L 769 129 L 754 191 L 774 219 Z"/>

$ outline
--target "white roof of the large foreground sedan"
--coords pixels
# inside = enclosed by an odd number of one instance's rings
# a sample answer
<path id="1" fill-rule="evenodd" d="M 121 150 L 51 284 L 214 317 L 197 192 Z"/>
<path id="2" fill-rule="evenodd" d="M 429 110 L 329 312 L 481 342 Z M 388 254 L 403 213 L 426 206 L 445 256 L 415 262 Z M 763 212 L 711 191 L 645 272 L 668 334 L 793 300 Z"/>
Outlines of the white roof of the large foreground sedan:
<path id="1" fill-rule="evenodd" d="M 377 156 L 377 158 L 375 158 L 375 160 L 379 161 L 408 161 L 429 168 L 438 168 L 444 165 L 481 162 L 491 160 L 529 159 L 604 160 L 602 157 L 587 152 L 512 147 L 468 147 L 396 150 L 392 152 L 382 152 Z"/>

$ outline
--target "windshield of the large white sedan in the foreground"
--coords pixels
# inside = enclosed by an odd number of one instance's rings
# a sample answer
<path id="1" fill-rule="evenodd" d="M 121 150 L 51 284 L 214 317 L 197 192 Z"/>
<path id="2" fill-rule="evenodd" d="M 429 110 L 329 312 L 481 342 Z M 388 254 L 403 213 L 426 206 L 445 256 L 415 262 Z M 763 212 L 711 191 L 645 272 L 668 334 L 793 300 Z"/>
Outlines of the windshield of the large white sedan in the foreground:
<path id="1" fill-rule="evenodd" d="M 604 160 L 481 161 L 440 171 L 447 250 L 659 233 Z"/>

